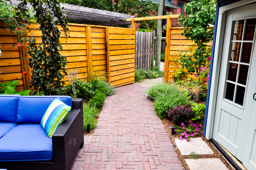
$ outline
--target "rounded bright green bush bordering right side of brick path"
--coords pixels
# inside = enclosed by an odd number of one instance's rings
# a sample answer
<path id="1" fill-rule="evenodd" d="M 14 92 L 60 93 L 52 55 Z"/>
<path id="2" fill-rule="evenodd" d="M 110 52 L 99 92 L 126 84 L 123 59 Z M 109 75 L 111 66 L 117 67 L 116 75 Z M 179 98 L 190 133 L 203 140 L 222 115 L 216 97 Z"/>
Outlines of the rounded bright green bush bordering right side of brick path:
<path id="1" fill-rule="evenodd" d="M 154 108 L 161 119 L 167 116 L 167 110 L 189 102 L 184 93 L 179 91 L 175 85 L 167 83 L 151 86 L 146 91 L 146 96 L 154 100 Z"/>

